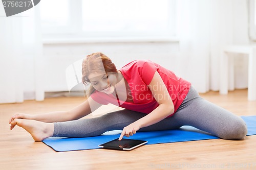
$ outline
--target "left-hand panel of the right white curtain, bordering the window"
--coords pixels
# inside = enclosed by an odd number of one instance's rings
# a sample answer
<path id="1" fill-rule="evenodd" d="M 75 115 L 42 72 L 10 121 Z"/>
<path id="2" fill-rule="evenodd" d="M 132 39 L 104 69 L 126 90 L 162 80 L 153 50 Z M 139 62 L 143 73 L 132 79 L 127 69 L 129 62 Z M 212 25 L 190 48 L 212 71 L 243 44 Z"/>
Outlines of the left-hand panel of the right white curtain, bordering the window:
<path id="1" fill-rule="evenodd" d="M 181 0 L 177 3 L 182 77 L 199 92 L 206 92 L 209 89 L 210 1 Z"/>

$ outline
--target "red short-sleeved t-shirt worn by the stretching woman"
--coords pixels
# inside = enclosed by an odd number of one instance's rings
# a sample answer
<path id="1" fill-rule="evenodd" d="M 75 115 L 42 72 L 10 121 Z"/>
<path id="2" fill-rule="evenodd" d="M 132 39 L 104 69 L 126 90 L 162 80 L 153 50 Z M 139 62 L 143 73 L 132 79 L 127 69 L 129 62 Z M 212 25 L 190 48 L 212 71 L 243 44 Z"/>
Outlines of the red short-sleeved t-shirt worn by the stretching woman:
<path id="1" fill-rule="evenodd" d="M 119 102 L 119 106 L 128 110 L 148 114 L 159 106 L 154 96 L 152 95 L 150 88 L 147 86 L 151 83 L 156 71 L 161 76 L 169 92 L 170 98 L 172 98 L 175 109 L 174 113 L 186 98 L 190 88 L 189 82 L 177 77 L 173 71 L 170 71 L 150 60 L 132 61 L 123 66 L 120 71 L 130 86 L 133 103 L 122 101 Z M 118 105 L 117 99 L 113 94 L 106 94 L 104 92 L 95 90 L 91 97 L 93 100 L 103 105 L 107 105 L 109 103 Z"/>

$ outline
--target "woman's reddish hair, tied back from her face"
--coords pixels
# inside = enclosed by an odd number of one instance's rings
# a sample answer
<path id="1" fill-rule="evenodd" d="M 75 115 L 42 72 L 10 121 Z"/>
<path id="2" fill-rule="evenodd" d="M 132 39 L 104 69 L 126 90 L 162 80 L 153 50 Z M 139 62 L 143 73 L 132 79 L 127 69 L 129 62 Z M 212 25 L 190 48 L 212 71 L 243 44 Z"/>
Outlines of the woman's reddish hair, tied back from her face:
<path id="1" fill-rule="evenodd" d="M 102 68 L 103 64 L 103 68 Z M 111 59 L 102 53 L 93 53 L 83 59 L 82 62 L 82 83 L 88 85 L 90 80 L 88 76 L 91 73 L 97 72 L 117 72 L 116 66 L 112 63 Z M 91 85 L 87 91 L 87 95 L 91 95 L 94 92 L 94 88 Z"/>

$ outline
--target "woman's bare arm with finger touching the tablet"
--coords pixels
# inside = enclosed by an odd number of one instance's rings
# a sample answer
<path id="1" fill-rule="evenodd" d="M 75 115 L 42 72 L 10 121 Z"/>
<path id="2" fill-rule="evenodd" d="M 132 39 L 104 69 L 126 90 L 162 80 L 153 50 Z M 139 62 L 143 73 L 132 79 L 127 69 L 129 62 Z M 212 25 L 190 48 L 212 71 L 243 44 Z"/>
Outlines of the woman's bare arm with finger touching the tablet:
<path id="1" fill-rule="evenodd" d="M 148 88 L 150 88 L 152 91 L 152 94 L 159 106 L 150 114 L 147 114 L 129 126 L 124 127 L 119 140 L 121 140 L 123 136 L 129 137 L 135 134 L 140 128 L 156 124 L 170 114 L 174 113 L 173 101 L 170 98 L 168 90 L 157 71 L 155 72 L 150 85 L 148 85 Z"/>

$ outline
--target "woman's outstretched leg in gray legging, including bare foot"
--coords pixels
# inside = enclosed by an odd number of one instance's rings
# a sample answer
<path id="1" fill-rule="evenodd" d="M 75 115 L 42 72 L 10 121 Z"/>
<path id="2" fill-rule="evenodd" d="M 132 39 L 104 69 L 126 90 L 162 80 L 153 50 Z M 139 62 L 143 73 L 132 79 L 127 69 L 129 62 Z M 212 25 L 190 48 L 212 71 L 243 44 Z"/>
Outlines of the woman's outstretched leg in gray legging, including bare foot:
<path id="1" fill-rule="evenodd" d="M 28 131 L 35 141 L 42 141 L 47 137 L 90 137 L 98 136 L 111 130 L 123 130 L 141 117 L 144 113 L 130 110 L 120 110 L 107 113 L 100 117 L 72 120 L 68 122 L 44 123 L 31 119 L 15 118 L 11 125 L 17 125 Z M 180 125 L 164 119 L 149 127 L 141 128 L 139 131 L 155 131 L 177 129 Z"/>

